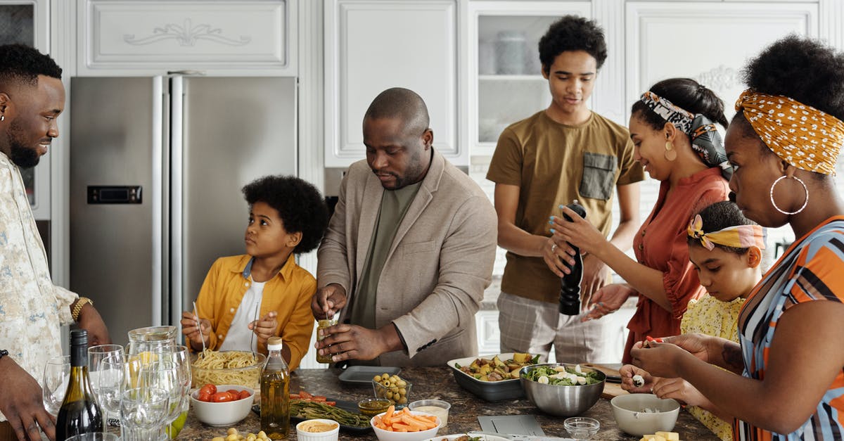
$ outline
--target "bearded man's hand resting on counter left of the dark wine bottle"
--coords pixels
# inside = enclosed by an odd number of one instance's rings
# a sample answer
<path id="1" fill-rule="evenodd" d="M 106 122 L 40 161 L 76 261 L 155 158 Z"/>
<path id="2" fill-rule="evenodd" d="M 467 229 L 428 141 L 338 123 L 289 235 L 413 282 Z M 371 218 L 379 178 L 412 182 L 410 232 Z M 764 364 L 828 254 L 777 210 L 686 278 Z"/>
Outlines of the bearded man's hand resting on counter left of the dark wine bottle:
<path id="1" fill-rule="evenodd" d="M 56 421 L 44 408 L 41 386 L 11 357 L 0 358 L 0 411 L 12 425 L 18 439 L 41 440 L 38 427 L 51 441 L 56 439 Z"/>

